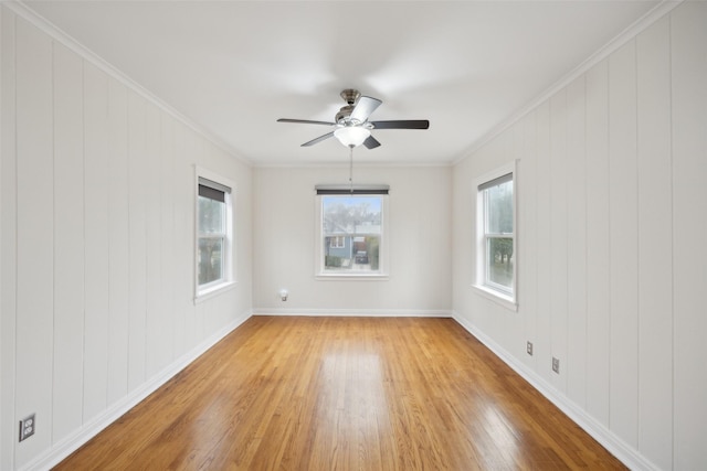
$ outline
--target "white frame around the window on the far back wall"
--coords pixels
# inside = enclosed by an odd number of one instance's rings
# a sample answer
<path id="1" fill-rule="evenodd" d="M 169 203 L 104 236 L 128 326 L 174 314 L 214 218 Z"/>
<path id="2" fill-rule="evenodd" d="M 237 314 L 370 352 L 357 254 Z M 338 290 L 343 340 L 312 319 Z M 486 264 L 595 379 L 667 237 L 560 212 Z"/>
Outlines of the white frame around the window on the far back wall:
<path id="1" fill-rule="evenodd" d="M 354 193 L 346 193 L 350 186 L 345 185 L 317 185 L 315 189 L 315 279 L 317 280 L 388 280 L 389 248 L 388 239 L 390 229 L 389 214 L 389 188 L 388 185 L 355 185 Z M 327 189 L 327 190 L 321 190 Z M 381 189 L 381 192 L 378 192 Z M 384 189 L 384 190 L 383 190 Z M 384 192 L 383 192 L 384 191 Z M 321 193 L 319 193 L 321 192 Z M 327 235 L 324 232 L 324 197 L 327 196 L 380 196 L 381 197 L 381 226 L 379 235 L 378 270 L 376 271 L 330 271 L 325 270 L 324 247 Z"/>

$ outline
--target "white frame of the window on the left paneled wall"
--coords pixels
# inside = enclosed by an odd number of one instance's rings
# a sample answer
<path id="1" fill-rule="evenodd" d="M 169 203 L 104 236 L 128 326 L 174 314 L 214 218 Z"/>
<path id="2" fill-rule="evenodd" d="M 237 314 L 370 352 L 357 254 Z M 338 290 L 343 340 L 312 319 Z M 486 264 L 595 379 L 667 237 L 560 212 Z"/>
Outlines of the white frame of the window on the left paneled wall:
<path id="1" fill-rule="evenodd" d="M 199 303 L 209 298 L 212 298 L 223 291 L 228 291 L 235 287 L 234 279 L 234 201 L 235 201 L 235 185 L 229 179 L 222 176 L 219 173 L 203 169 L 201 167 L 194 167 L 194 303 Z M 199 185 L 201 181 L 208 180 L 217 185 L 224 186 L 230 191 L 224 191 L 224 232 L 219 234 L 213 233 L 200 233 L 199 231 Z M 217 280 L 208 283 L 199 283 L 199 242 L 205 238 L 219 238 L 222 239 L 222 263 L 221 263 L 221 277 Z"/>

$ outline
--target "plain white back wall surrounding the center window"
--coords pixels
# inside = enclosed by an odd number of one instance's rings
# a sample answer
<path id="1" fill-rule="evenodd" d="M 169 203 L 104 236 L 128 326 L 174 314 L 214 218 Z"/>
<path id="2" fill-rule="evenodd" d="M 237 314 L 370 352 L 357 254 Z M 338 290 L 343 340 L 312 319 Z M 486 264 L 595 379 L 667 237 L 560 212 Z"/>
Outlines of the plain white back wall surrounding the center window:
<path id="1" fill-rule="evenodd" d="M 347 150 L 341 147 L 340 152 L 346 160 Z M 347 183 L 348 173 L 348 165 L 255 170 L 255 312 L 449 315 L 450 167 L 383 168 L 355 163 L 355 183 L 390 184 L 390 220 L 386 229 L 390 278 L 315 279 L 314 188 L 318 183 Z M 286 302 L 277 295 L 283 288 L 289 291 Z"/>

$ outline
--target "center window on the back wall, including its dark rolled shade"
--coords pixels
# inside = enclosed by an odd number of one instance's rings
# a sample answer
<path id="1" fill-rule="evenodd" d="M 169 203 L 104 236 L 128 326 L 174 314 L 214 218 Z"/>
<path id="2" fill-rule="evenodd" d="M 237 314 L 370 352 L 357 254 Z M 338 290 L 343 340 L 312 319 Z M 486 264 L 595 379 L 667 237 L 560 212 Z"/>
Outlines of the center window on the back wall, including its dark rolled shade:
<path id="1" fill-rule="evenodd" d="M 388 186 L 317 186 L 318 276 L 384 276 Z"/>

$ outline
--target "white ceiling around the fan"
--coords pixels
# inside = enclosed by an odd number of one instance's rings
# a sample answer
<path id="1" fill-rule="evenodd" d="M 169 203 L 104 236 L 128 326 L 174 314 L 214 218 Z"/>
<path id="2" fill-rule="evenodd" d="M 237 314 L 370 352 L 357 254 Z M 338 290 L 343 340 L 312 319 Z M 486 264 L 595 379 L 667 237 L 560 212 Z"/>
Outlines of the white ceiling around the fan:
<path id="1" fill-rule="evenodd" d="M 446 164 L 652 10 L 591 1 L 25 1 L 255 165 L 348 161 L 339 93 L 383 104 L 359 162 Z"/>

